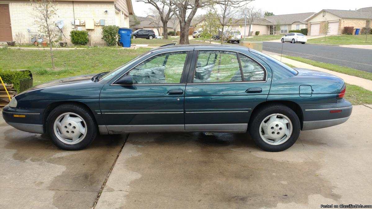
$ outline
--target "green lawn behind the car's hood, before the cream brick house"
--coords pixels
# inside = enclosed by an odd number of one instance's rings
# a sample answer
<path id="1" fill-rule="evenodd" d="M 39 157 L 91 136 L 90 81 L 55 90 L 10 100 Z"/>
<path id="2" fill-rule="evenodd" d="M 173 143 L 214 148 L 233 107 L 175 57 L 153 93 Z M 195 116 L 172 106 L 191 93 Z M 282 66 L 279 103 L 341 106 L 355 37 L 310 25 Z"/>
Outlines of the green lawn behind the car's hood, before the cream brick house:
<path id="1" fill-rule="evenodd" d="M 38 85 L 58 78 L 112 71 L 148 50 L 109 47 L 54 50 L 56 69 L 52 70 L 49 50 L 0 49 L 0 69 L 31 70 L 33 85 Z"/>

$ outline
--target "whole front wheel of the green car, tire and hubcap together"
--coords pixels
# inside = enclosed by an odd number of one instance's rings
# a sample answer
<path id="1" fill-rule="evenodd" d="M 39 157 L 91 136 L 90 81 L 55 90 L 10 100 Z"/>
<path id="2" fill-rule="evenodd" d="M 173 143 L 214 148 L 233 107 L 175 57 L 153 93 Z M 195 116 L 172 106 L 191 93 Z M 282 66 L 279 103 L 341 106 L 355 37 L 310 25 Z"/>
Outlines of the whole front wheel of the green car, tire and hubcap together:
<path id="1" fill-rule="evenodd" d="M 48 115 L 46 129 L 55 146 L 63 150 L 81 150 L 89 146 L 97 135 L 92 113 L 75 104 L 54 108 Z"/>

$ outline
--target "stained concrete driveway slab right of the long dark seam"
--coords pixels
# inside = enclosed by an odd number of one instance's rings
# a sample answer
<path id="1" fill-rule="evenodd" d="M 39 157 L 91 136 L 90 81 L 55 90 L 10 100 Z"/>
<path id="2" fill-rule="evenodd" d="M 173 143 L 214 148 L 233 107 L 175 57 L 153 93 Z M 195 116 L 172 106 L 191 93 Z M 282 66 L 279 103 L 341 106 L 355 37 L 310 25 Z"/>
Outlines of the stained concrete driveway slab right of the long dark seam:
<path id="1" fill-rule="evenodd" d="M 371 205 L 372 109 L 302 131 L 279 153 L 248 134 L 129 134 L 96 208 L 320 208 Z"/>

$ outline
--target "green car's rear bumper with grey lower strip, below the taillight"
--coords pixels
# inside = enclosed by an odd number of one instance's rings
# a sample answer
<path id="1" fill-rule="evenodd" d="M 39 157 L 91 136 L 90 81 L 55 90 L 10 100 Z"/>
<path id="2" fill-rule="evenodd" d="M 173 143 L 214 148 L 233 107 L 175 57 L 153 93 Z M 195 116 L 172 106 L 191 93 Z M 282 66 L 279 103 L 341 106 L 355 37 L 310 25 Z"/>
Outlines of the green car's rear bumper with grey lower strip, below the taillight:
<path id="1" fill-rule="evenodd" d="M 347 100 L 330 104 L 300 105 L 300 107 L 304 117 L 302 131 L 344 123 L 353 110 L 352 104 Z"/>

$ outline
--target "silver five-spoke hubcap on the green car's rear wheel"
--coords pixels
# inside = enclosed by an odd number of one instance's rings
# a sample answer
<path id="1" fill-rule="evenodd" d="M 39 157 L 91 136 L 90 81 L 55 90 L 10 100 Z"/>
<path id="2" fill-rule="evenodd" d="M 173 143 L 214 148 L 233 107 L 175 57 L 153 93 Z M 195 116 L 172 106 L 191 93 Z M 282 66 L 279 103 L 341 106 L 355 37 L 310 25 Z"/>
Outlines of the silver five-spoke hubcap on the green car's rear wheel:
<path id="1" fill-rule="evenodd" d="M 292 123 L 283 114 L 267 116 L 260 124 L 260 136 L 264 142 L 271 145 L 285 143 L 292 134 Z"/>

